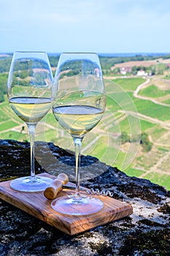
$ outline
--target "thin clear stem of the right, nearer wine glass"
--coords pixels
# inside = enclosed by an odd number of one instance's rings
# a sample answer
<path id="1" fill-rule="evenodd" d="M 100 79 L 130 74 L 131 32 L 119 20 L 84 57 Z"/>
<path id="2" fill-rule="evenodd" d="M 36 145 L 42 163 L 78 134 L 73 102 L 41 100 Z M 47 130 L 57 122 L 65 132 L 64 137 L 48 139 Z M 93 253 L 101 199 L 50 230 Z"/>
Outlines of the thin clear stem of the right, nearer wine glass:
<path id="1" fill-rule="evenodd" d="M 76 199 L 80 199 L 80 153 L 82 147 L 82 138 L 73 138 L 76 157 Z"/>

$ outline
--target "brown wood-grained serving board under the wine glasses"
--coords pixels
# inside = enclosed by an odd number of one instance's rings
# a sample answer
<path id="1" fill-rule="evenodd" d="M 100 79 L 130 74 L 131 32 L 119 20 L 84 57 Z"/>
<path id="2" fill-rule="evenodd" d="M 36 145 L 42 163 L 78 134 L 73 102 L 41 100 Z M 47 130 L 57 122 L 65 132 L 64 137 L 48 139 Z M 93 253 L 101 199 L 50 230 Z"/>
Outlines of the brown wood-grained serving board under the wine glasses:
<path id="1" fill-rule="evenodd" d="M 55 178 L 47 173 L 40 176 Z M 71 184 L 71 182 L 68 183 L 68 185 Z M 72 191 L 64 189 L 58 196 L 71 194 Z M 51 208 L 51 201 L 47 200 L 43 192 L 19 192 L 11 189 L 10 181 L 0 183 L 0 198 L 69 235 L 127 217 L 133 212 L 132 206 L 128 203 L 120 202 L 112 197 L 100 196 L 104 208 L 96 214 L 84 216 L 60 214 Z"/>

